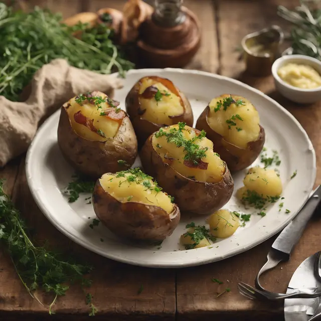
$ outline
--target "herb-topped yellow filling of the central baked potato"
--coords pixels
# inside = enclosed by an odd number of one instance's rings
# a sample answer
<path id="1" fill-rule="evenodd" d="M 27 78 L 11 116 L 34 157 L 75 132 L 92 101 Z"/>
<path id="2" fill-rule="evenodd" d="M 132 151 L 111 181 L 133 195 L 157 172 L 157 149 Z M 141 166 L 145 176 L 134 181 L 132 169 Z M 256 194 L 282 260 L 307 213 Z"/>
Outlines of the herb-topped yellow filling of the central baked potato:
<path id="1" fill-rule="evenodd" d="M 181 126 L 181 127 L 180 127 Z M 173 133 L 173 137 L 167 134 Z M 218 183 L 222 180 L 226 171 L 226 165 L 220 156 L 213 151 L 213 142 L 206 137 L 198 139 L 200 131 L 189 126 L 172 125 L 161 128 L 152 137 L 152 145 L 155 151 L 162 157 L 163 162 L 171 165 L 181 175 L 199 182 Z M 194 166 L 186 162 L 187 148 L 203 149 L 205 156 L 201 158 L 202 164 L 207 168 Z M 203 165 L 204 165 L 203 164 Z"/>

